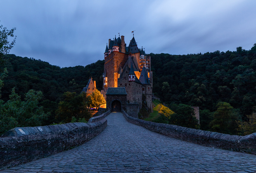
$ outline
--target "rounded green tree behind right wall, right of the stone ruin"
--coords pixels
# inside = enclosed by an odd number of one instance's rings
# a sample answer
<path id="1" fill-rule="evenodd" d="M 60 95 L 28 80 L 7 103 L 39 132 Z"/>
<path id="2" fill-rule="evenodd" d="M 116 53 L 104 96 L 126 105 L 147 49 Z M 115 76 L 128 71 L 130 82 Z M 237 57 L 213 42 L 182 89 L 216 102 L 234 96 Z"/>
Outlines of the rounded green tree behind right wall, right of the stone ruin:
<path id="1" fill-rule="evenodd" d="M 234 109 L 229 103 L 219 102 L 218 109 L 214 112 L 214 119 L 210 123 L 211 131 L 225 134 L 235 134 L 240 120 L 239 110 Z"/>

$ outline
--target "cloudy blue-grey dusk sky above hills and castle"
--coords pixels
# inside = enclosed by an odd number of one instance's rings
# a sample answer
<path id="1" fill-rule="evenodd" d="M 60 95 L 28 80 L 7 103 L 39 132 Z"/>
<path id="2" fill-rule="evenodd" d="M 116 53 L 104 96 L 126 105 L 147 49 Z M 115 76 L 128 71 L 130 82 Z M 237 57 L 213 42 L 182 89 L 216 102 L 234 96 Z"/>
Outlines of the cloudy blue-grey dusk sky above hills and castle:
<path id="1" fill-rule="evenodd" d="M 256 43 L 255 0 L 1 0 L 0 25 L 12 29 L 10 54 L 60 67 L 104 59 L 115 36 L 133 35 L 145 53 L 249 50 Z"/>

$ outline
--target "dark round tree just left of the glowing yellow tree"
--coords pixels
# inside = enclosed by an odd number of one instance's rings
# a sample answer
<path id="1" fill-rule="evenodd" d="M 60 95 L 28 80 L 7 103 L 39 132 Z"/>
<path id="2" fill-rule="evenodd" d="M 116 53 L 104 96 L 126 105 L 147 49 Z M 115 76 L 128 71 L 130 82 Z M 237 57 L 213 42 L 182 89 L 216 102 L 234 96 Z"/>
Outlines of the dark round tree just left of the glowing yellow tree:
<path id="1" fill-rule="evenodd" d="M 77 94 L 76 92 L 65 92 L 64 101 L 59 102 L 56 110 L 56 119 L 60 122 L 71 122 L 72 117 L 76 120 L 80 118 L 90 119 L 91 114 L 88 111 L 89 98 L 86 93 Z"/>

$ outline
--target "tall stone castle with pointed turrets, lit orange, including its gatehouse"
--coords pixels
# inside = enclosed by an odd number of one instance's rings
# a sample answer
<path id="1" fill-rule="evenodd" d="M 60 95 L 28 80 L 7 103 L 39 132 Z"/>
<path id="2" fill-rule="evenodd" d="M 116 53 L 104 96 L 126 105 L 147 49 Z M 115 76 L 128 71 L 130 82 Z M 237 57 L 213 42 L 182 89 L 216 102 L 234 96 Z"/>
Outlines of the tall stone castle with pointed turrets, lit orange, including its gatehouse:
<path id="1" fill-rule="evenodd" d="M 150 56 L 145 56 L 143 48 L 138 48 L 134 36 L 129 46 L 126 46 L 124 36 L 109 39 L 104 59 L 101 93 L 107 100 L 107 108 L 112 112 L 124 109 L 136 117 L 142 107 L 144 94 L 152 112 Z"/>

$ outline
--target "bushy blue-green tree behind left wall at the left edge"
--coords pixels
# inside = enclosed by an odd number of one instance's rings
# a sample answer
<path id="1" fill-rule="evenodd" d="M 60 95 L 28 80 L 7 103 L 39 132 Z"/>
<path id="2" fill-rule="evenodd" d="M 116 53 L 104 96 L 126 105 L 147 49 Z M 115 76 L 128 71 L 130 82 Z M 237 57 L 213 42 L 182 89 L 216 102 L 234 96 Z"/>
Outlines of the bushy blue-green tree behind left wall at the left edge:
<path id="1" fill-rule="evenodd" d="M 22 101 L 13 88 L 10 100 L 5 103 L 0 100 L 0 134 L 17 126 L 41 126 L 43 120 L 50 115 L 43 111 L 43 107 L 38 106 L 42 96 L 40 91 L 29 90 Z"/>

